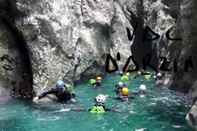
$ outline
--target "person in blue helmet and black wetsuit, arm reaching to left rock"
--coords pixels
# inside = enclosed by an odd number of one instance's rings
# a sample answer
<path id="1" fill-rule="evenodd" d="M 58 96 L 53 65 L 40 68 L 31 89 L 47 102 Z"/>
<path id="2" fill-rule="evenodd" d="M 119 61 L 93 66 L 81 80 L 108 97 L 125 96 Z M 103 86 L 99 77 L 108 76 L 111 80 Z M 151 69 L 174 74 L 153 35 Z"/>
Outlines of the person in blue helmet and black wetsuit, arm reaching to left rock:
<path id="1" fill-rule="evenodd" d="M 42 99 L 48 94 L 54 94 L 57 97 L 58 102 L 63 102 L 63 103 L 72 101 L 74 100 L 73 98 L 75 97 L 75 94 L 68 91 L 64 81 L 58 80 L 55 88 L 52 88 L 51 90 L 46 91 L 42 93 L 41 95 L 35 97 L 33 101 L 37 102 L 39 99 Z"/>

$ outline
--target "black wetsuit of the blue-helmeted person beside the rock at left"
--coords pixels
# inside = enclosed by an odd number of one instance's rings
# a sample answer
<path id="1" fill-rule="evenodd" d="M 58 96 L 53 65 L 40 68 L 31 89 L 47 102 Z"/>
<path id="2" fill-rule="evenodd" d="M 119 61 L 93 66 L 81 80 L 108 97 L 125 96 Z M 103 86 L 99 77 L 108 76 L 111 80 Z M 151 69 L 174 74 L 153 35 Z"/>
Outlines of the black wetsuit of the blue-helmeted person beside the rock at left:
<path id="1" fill-rule="evenodd" d="M 58 98 L 59 102 L 67 102 L 71 98 L 75 97 L 75 95 L 70 93 L 69 91 L 66 91 L 66 90 L 63 91 L 63 90 L 60 90 L 58 88 L 54 88 L 54 89 L 51 89 L 47 92 L 42 93 L 38 98 L 41 99 L 48 94 L 54 94 Z"/>

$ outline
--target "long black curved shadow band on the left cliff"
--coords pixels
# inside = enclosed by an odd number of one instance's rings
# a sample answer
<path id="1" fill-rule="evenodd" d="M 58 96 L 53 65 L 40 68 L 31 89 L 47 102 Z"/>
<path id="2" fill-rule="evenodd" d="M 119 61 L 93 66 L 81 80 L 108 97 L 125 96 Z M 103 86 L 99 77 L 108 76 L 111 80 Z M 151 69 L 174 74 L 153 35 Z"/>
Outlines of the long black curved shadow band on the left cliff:
<path id="1" fill-rule="evenodd" d="M 14 47 L 18 50 L 20 59 L 22 61 L 22 73 L 16 74 L 22 75 L 22 81 L 19 83 L 12 82 L 13 92 L 18 92 L 18 95 L 22 98 L 31 99 L 34 95 L 33 92 L 33 73 L 31 67 L 31 61 L 29 56 L 29 51 L 27 43 L 23 37 L 23 34 L 17 29 L 14 24 L 15 18 L 21 16 L 22 14 L 16 8 L 16 1 L 0 1 L 0 20 L 2 24 L 11 34 L 11 37 L 14 40 Z"/>

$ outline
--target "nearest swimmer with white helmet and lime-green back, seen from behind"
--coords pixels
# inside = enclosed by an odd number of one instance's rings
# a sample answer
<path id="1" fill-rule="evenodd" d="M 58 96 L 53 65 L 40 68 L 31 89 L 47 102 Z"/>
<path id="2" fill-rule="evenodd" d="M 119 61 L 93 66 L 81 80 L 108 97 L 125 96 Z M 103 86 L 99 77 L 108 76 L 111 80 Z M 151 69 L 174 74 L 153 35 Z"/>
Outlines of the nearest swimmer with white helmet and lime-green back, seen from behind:
<path id="1" fill-rule="evenodd" d="M 99 94 L 95 98 L 95 105 L 89 109 L 91 113 L 105 113 L 106 111 L 111 111 L 110 109 L 105 107 L 107 96 L 103 94 Z"/>

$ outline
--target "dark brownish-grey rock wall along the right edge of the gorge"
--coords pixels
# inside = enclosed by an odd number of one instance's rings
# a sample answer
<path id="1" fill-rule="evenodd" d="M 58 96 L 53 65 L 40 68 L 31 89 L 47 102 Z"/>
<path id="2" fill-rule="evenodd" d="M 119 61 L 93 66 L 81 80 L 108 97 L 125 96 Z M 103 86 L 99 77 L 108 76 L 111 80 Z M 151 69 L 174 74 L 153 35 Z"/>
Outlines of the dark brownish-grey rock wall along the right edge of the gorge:
<path id="1" fill-rule="evenodd" d="M 168 1 L 166 1 L 168 2 Z M 176 5 L 176 4 L 175 4 Z M 196 5 L 195 0 L 177 1 L 178 16 L 175 28 L 172 30 L 172 38 L 181 38 L 181 40 L 173 40 L 167 43 L 165 53 L 167 58 L 171 61 L 170 75 L 165 77 L 170 79 L 168 82 L 171 88 L 188 93 L 193 99 L 193 107 L 188 113 L 186 119 L 188 123 L 196 130 L 197 110 L 197 63 L 196 63 Z M 172 10 L 173 11 L 173 10 Z M 176 12 L 176 11 L 175 11 Z M 167 84 L 169 84 L 167 83 Z"/>

